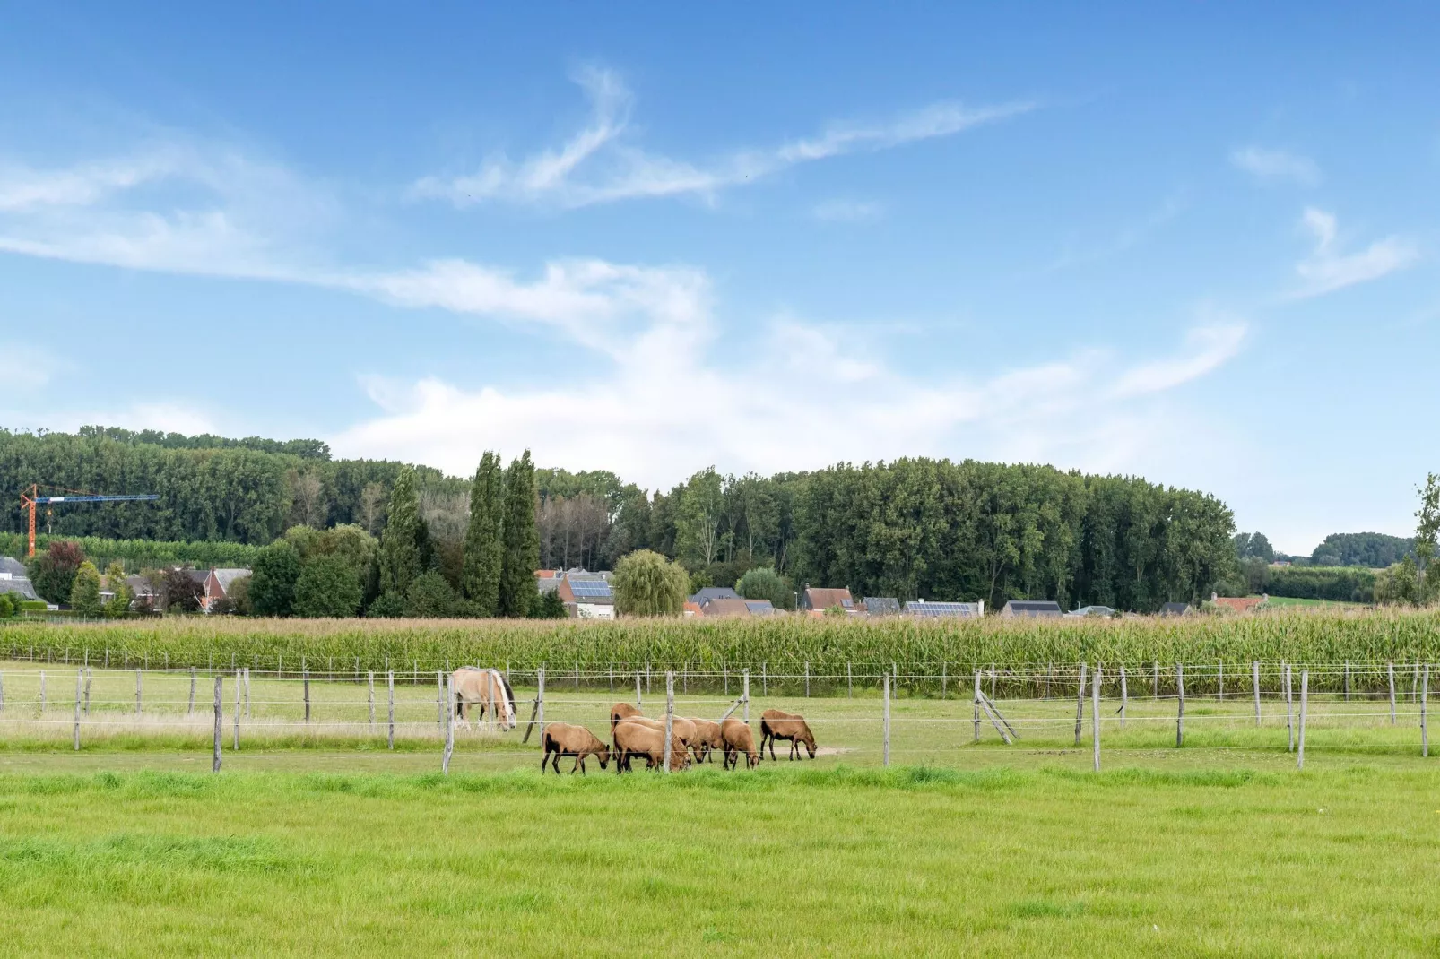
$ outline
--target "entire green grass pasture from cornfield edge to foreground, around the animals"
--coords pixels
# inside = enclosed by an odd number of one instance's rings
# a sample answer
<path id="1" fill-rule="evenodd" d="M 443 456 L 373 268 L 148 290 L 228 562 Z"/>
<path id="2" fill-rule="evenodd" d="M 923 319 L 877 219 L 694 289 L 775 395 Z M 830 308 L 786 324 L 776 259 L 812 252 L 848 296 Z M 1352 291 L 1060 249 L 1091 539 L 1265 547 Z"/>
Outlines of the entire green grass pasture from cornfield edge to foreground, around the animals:
<path id="1" fill-rule="evenodd" d="M 1102 700 L 998 706 L 900 688 L 883 763 L 878 693 L 752 687 L 752 726 L 805 713 L 821 755 L 726 773 L 546 776 L 521 730 L 456 731 L 439 775 L 433 680 L 396 687 L 397 749 L 364 683 L 253 680 L 242 749 L 225 687 L 96 671 L 73 752 L 75 672 L 0 662 L 3 955 L 1433 955 L 1440 767 L 1420 703 L 1397 721 L 1375 675 L 1312 695 L 1306 769 L 1266 687 L 1176 701 L 1132 680 L 1125 727 Z M 1201 688 L 1200 677 L 1188 688 Z M 780 693 L 785 695 L 780 695 Z M 1365 695 L 1361 694 L 1365 693 Z M 547 719 L 605 731 L 608 688 L 547 688 Z M 387 703 L 379 691 L 383 724 Z M 521 721 L 533 690 L 517 690 Z M 677 697 L 717 716 L 723 695 Z M 662 710 L 654 690 L 647 711 Z M 1296 704 L 1297 711 L 1297 704 Z M 523 729 L 523 727 L 521 727 Z M 564 762 L 563 769 L 569 769 Z"/>

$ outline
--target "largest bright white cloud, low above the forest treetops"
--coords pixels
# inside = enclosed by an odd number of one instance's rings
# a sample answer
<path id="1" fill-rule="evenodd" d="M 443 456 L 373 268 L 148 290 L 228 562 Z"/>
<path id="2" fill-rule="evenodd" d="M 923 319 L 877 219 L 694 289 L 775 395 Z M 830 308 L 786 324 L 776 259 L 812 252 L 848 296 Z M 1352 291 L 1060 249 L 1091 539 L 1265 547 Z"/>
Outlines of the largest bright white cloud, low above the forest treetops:
<path id="1" fill-rule="evenodd" d="M 773 472 L 901 455 L 1122 469 L 1135 467 L 1155 435 L 1159 395 L 1218 367 L 1244 336 L 1240 323 L 1211 323 L 1165 360 L 1126 363 L 1089 348 L 991 374 L 982 361 L 962 360 L 927 379 L 891 367 L 877 344 L 852 331 L 793 317 L 753 338 L 723 337 L 697 271 L 609 264 L 586 271 L 602 278 L 583 288 L 586 315 L 628 325 L 613 341 L 579 350 L 563 384 L 464 389 L 433 377 L 370 379 L 380 415 L 333 436 L 333 448 L 465 474 L 482 449 L 530 446 L 547 464 L 603 467 L 651 485 L 708 462 Z M 539 285 L 553 292 L 547 281 Z M 423 302 L 554 323 L 549 302 L 531 308 L 531 287 L 518 302 L 508 287 L 504 295 Z M 575 291 L 569 281 L 557 287 Z"/>

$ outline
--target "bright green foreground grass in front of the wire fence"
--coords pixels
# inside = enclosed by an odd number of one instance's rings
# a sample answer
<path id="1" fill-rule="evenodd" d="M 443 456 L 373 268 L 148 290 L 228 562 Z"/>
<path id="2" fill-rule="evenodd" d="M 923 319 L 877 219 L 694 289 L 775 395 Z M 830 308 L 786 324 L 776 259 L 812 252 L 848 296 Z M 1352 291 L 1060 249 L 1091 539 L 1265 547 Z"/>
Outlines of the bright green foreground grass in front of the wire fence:
<path id="1" fill-rule="evenodd" d="M 1440 773 L 0 775 L 7 955 L 1421 955 Z"/>

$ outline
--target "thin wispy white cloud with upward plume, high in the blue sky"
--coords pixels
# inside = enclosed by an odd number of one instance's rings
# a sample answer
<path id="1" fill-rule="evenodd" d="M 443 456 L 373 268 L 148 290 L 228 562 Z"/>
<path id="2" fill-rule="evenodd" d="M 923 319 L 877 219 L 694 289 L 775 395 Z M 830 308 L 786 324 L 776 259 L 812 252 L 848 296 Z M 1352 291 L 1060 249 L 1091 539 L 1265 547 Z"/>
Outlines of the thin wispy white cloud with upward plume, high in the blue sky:
<path id="1" fill-rule="evenodd" d="M 412 193 L 445 199 L 456 206 L 503 200 L 580 207 L 681 194 L 713 199 L 724 187 L 759 180 L 801 163 L 949 137 L 1034 109 L 1030 102 L 978 108 L 933 104 L 884 122 L 835 124 L 816 137 L 740 150 L 696 164 L 645 153 L 626 141 L 634 98 L 613 72 L 585 71 L 576 82 L 590 99 L 592 115 L 562 147 L 518 163 L 504 156 L 491 157 L 471 174 L 425 177 L 413 184 Z"/>

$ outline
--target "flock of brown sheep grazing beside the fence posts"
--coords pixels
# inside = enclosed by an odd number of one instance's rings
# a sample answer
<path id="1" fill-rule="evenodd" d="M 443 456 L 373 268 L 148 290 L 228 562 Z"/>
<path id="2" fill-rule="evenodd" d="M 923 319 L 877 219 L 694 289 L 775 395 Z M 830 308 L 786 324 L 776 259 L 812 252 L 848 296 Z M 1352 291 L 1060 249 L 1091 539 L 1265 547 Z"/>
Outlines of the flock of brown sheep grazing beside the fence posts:
<path id="1" fill-rule="evenodd" d="M 615 772 L 628 772 L 631 760 L 636 756 L 645 760 L 647 769 L 660 769 L 665 765 L 665 720 L 642 716 L 639 708 L 629 703 L 616 703 L 611 707 L 611 737 L 613 746 L 585 729 L 570 723 L 549 723 L 544 727 L 541 746 L 544 756 L 540 759 L 540 772 L 550 765 L 556 775 L 560 773 L 560 757 L 573 757 L 575 767 L 570 772 L 585 773 L 585 760 L 596 756 L 600 769 L 605 769 L 612 755 L 615 757 Z M 703 719 L 671 717 L 670 721 L 670 769 L 680 772 L 690 769 L 691 759 L 697 763 L 706 762 L 710 755 L 720 750 L 724 755 L 724 769 L 736 769 L 740 765 L 740 755 L 744 753 L 744 766 L 757 766 L 765 756 L 765 747 L 770 747 L 770 759 L 775 756 L 775 740 L 783 739 L 791 743 L 791 759 L 798 759 L 801 746 L 815 759 L 815 734 L 811 733 L 805 717 L 796 713 L 780 710 L 765 710 L 760 714 L 760 747 L 755 747 L 755 736 L 749 723 L 734 717 L 720 723 Z"/>

